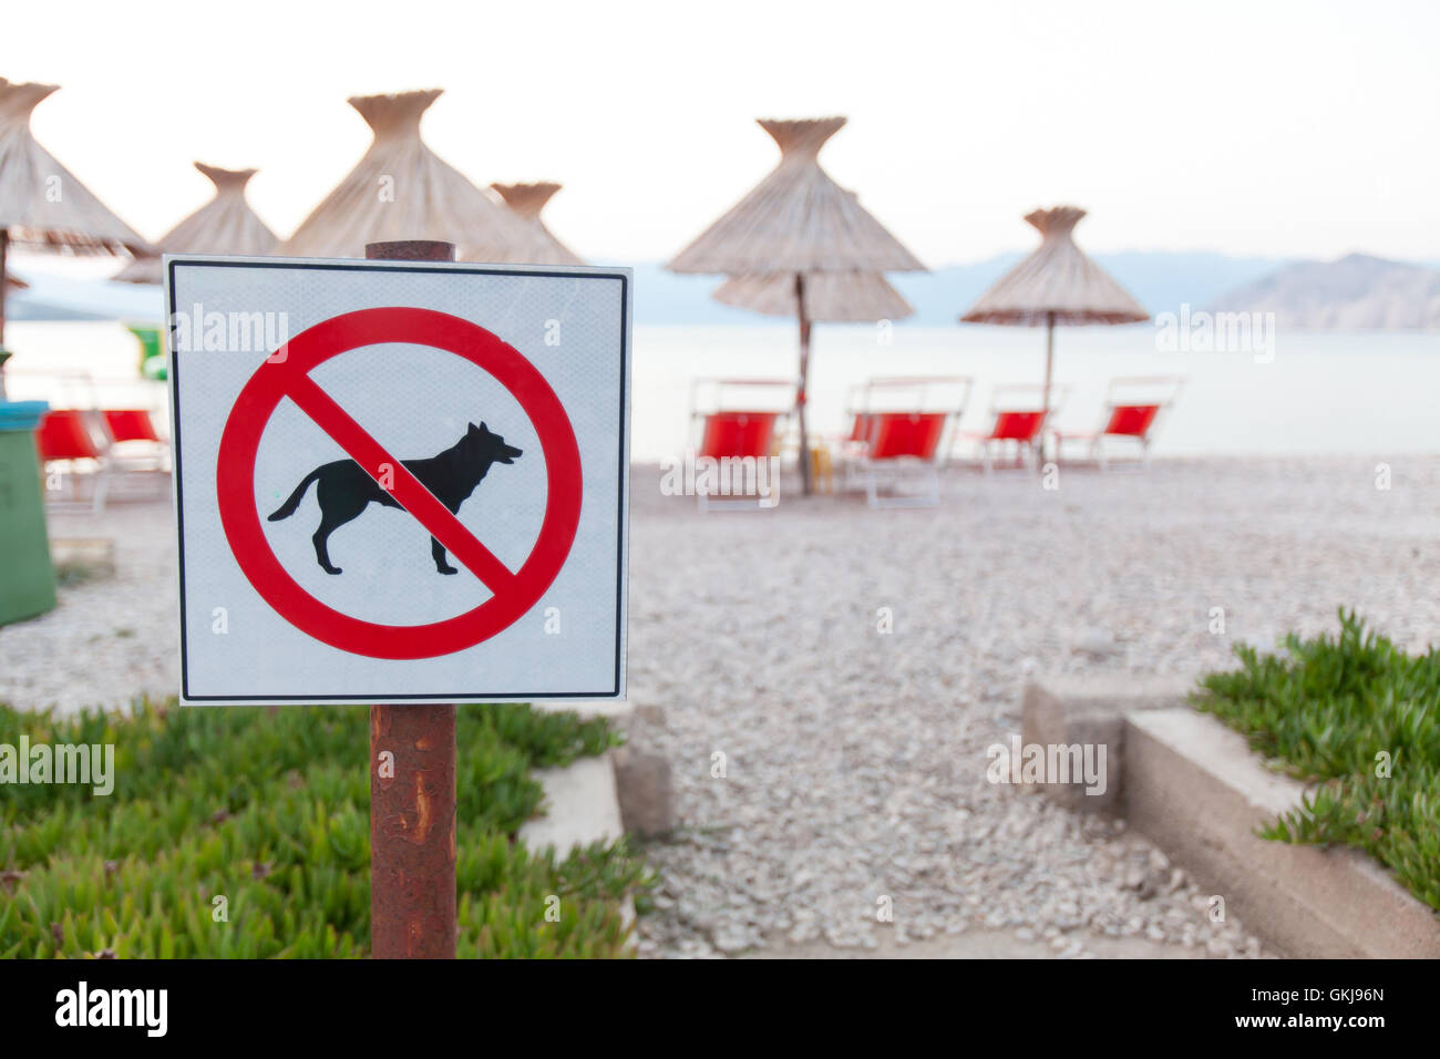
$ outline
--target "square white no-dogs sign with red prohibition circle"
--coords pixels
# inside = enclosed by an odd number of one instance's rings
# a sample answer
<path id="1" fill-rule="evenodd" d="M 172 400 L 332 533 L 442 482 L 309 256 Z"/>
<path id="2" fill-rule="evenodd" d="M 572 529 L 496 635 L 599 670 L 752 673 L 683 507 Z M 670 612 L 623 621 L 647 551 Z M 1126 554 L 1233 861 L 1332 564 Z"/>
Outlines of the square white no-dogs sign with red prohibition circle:
<path id="1" fill-rule="evenodd" d="M 629 274 L 166 259 L 189 703 L 624 697 Z"/>

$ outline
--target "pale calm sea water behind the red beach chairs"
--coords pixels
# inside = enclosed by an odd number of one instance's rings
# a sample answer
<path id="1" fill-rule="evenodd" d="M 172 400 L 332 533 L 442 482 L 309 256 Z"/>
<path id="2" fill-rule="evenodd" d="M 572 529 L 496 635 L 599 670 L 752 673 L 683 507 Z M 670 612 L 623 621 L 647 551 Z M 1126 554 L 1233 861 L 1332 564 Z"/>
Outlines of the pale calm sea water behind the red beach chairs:
<path id="1" fill-rule="evenodd" d="M 7 372 L 12 399 L 166 409 L 164 386 L 138 377 L 140 347 L 120 324 L 14 321 L 6 337 L 16 353 Z M 1185 386 L 1158 428 L 1161 457 L 1440 452 L 1440 334 L 1282 327 L 1272 346 L 1174 352 L 1155 324 L 1058 329 L 1054 382 L 1068 395 L 1056 425 L 1096 429 L 1110 379 L 1176 375 Z M 982 431 L 996 385 L 1041 382 L 1044 349 L 1044 330 L 1031 327 L 819 324 L 811 352 L 812 432 L 844 429 L 851 386 L 907 375 L 973 376 L 962 428 Z M 634 458 L 654 463 L 694 444 L 696 379 L 793 379 L 796 363 L 793 326 L 636 327 Z"/>

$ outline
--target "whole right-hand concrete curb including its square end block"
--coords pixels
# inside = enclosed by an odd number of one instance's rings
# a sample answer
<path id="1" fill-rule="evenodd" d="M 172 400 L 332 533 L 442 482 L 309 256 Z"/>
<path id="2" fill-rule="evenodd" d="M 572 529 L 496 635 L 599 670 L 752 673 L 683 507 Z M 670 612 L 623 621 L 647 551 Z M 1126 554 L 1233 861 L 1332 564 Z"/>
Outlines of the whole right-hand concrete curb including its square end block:
<path id="1" fill-rule="evenodd" d="M 1041 677 L 1025 687 L 1025 743 L 1103 743 L 1109 784 L 1047 785 L 1081 811 L 1123 814 L 1267 945 L 1306 958 L 1440 958 L 1440 916 L 1354 849 L 1269 841 L 1256 830 L 1305 784 L 1266 768 L 1243 735 L 1187 703 L 1192 683 Z"/>

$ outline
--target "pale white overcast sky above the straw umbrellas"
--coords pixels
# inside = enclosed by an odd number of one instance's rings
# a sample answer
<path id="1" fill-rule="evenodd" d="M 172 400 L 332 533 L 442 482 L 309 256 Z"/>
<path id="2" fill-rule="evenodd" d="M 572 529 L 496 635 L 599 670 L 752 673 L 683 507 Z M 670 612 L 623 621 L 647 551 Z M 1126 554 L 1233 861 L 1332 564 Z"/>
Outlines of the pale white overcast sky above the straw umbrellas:
<path id="1" fill-rule="evenodd" d="M 1028 249 L 1440 259 L 1440 4 L 10 4 L 0 76 L 147 238 L 190 163 L 258 167 L 288 235 L 361 156 L 347 97 L 444 88 L 423 133 L 475 183 L 556 180 L 582 256 L 661 261 L 775 164 L 756 117 L 842 114 L 831 176 L 929 265 Z"/>

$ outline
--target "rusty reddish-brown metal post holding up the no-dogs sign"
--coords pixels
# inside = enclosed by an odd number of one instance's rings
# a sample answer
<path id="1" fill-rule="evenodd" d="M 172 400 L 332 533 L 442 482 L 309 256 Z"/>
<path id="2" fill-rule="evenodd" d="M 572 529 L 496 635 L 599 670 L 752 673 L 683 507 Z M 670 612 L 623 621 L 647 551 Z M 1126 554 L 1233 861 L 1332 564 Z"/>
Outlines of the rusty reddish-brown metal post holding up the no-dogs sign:
<path id="1" fill-rule="evenodd" d="M 454 261 L 455 246 L 373 242 L 372 261 Z M 370 954 L 455 958 L 455 707 L 370 707 Z"/>

